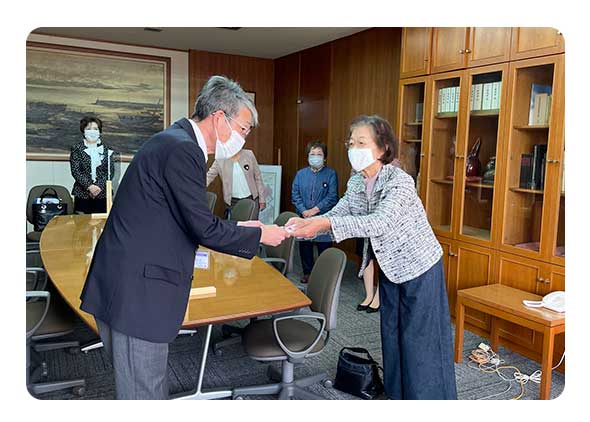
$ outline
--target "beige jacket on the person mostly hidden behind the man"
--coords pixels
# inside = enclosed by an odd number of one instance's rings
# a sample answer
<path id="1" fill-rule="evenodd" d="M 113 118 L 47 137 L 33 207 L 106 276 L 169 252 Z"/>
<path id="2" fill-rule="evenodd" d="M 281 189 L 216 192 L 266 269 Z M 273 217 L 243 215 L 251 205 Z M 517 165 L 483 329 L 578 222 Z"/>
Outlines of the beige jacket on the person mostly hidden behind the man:
<path id="1" fill-rule="evenodd" d="M 258 162 L 256 161 L 254 153 L 249 149 L 241 150 L 238 162 L 244 172 L 244 176 L 246 176 L 246 182 L 248 182 L 252 198 L 256 199 L 260 196 L 260 202 L 265 202 L 265 198 L 262 197 L 262 193 L 264 192 L 262 174 L 260 173 L 260 168 L 258 167 Z M 213 161 L 213 164 L 211 164 L 211 167 L 207 171 L 207 186 L 209 186 L 218 175 L 221 176 L 223 201 L 227 205 L 231 205 L 233 171 L 234 162 L 230 158 Z"/>

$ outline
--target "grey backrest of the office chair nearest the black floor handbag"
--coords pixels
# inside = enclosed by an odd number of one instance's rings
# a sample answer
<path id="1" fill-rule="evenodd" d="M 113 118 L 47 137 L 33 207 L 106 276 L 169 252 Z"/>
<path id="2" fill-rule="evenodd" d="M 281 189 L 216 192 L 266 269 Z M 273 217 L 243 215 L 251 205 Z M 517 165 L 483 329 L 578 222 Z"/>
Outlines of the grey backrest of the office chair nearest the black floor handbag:
<path id="1" fill-rule="evenodd" d="M 329 248 L 316 260 L 307 286 L 311 299 L 310 309 L 326 316 L 326 330 L 336 328 L 336 312 L 340 297 L 340 283 L 346 266 L 346 254 L 337 248 Z"/>

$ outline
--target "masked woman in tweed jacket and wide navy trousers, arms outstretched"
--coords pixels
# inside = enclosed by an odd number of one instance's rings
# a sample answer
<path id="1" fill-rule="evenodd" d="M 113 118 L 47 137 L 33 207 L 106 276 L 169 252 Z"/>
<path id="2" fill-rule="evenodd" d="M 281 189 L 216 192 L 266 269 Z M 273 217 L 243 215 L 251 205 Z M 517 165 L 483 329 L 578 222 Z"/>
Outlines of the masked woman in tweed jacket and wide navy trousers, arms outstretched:
<path id="1" fill-rule="evenodd" d="M 379 116 L 357 117 L 347 141 L 359 173 L 329 212 L 292 218 L 293 236 L 328 232 L 340 242 L 367 238 L 361 274 L 379 265 L 385 393 L 391 399 L 456 399 L 451 320 L 442 248 L 430 227 L 414 181 L 392 165 L 397 139 Z"/>

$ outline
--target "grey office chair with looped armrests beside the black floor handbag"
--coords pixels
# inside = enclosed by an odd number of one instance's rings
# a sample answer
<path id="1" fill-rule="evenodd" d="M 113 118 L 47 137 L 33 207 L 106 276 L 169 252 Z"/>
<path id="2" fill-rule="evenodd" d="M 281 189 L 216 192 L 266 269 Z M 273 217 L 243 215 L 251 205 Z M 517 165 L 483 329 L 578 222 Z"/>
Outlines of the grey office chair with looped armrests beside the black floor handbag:
<path id="1" fill-rule="evenodd" d="M 344 252 L 336 248 L 326 249 L 317 259 L 309 277 L 307 296 L 312 301 L 309 310 L 259 319 L 246 327 L 242 340 L 246 353 L 259 362 L 282 361 L 281 381 L 235 388 L 234 399 L 249 394 L 278 394 L 279 399 L 290 399 L 293 396 L 318 399 L 321 397 L 303 387 L 320 381 L 325 387 L 331 387 L 332 382 L 326 372 L 295 380 L 293 371 L 296 364 L 321 353 L 328 343 L 330 331 L 336 328 L 340 283 L 345 265 Z M 305 319 L 319 321 L 320 327 L 302 321 Z"/>

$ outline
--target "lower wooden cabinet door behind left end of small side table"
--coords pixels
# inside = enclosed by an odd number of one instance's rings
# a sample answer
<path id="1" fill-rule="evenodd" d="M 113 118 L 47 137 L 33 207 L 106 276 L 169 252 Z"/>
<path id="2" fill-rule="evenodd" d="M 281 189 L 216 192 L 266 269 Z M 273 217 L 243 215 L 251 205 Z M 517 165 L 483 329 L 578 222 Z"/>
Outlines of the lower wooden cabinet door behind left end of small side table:
<path id="1" fill-rule="evenodd" d="M 452 259 L 456 261 L 457 290 L 494 283 L 495 250 L 464 242 L 457 242 L 456 245 L 456 256 Z M 466 309 L 465 322 L 490 331 L 490 317 L 483 312 Z"/>

